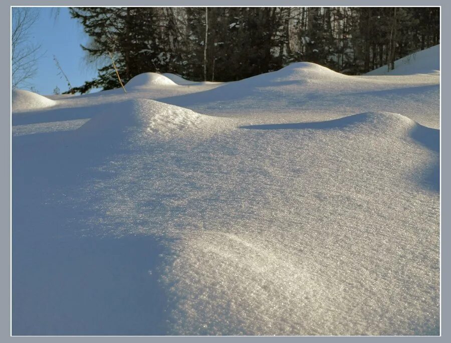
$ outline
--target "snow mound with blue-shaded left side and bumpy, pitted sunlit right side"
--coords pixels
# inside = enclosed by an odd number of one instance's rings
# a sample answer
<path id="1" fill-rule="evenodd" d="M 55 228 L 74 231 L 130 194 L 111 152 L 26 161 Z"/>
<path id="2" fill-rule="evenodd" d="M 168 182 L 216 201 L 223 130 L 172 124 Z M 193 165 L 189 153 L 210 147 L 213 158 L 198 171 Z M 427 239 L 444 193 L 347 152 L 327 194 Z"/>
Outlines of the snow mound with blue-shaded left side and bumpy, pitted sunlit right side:
<path id="1" fill-rule="evenodd" d="M 158 136 L 211 134 L 223 129 L 229 119 L 199 114 L 189 109 L 148 99 L 127 100 L 105 106 L 99 114 L 80 127 L 79 132 L 115 137 L 138 129 Z"/>

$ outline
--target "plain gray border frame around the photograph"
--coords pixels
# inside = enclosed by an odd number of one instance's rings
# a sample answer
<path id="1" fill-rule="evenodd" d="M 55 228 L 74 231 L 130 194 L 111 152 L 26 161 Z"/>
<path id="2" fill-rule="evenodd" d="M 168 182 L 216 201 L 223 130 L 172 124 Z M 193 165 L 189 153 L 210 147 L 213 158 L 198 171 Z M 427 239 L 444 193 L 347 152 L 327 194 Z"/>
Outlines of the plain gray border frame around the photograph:
<path id="1" fill-rule="evenodd" d="M 274 339 L 284 339 L 284 340 L 320 340 L 326 341 L 329 339 L 339 340 L 339 341 L 348 341 L 355 339 L 365 339 L 365 340 L 373 340 L 373 339 L 388 339 L 391 340 L 402 340 L 410 339 L 414 341 L 419 340 L 429 340 L 429 339 L 443 339 L 445 337 L 451 336 L 449 334 L 448 324 L 450 323 L 450 313 L 449 313 L 449 293 L 447 290 L 450 288 L 450 275 L 449 275 L 449 265 L 448 261 L 450 260 L 450 250 L 448 249 L 448 245 L 450 244 L 450 235 L 447 229 L 449 228 L 451 212 L 448 210 L 451 208 L 451 199 L 449 195 L 449 181 L 447 179 L 450 164 L 449 161 L 449 152 L 447 147 L 451 145 L 451 137 L 447 134 L 441 135 L 443 132 L 451 131 L 451 117 L 448 112 L 450 112 L 450 97 L 446 96 L 451 94 L 450 92 L 450 78 L 451 72 L 447 67 L 447 63 L 444 64 L 444 68 L 440 67 L 441 73 L 441 95 L 445 95 L 444 97 L 440 96 L 441 99 L 441 125 L 440 125 L 440 136 L 441 136 L 441 149 L 440 149 L 440 195 L 441 195 L 441 336 L 440 337 L 419 337 L 419 336 L 405 336 L 405 337 L 177 337 L 177 336 L 151 336 L 151 337 L 89 337 L 89 336 L 77 336 L 77 337 L 11 337 L 11 326 L 10 326 L 10 305 L 11 305 L 11 288 L 10 288 L 10 275 L 11 275 L 11 250 L 10 250 L 10 229 L 11 229 L 11 52 L 10 48 L 10 37 L 11 37 L 11 26 L 10 26 L 10 13 L 11 6 L 441 6 L 441 32 L 444 32 L 444 35 L 441 35 L 441 39 L 444 39 L 444 42 L 441 41 L 441 60 L 448 61 L 447 57 L 449 57 L 449 36 L 448 33 L 451 32 L 450 29 L 450 20 L 451 12 L 449 8 L 451 7 L 449 4 L 442 1 L 435 1 L 432 3 L 428 3 L 426 1 L 418 1 L 418 0 L 397 0 L 397 1 L 387 1 L 387 0 L 379 0 L 369 2 L 368 0 L 364 1 L 331 1 L 331 0 L 323 0 L 319 3 L 314 1 L 310 2 L 300 2 L 296 0 L 282 0 L 280 2 L 270 1 L 270 0 L 220 0 L 220 1 L 201 1 L 201 0 L 169 0 L 169 1 L 156 1 L 156 0 L 71 0 L 67 4 L 60 1 L 55 0 L 10 0 L 7 2 L 0 3 L 0 40 L 2 42 L 2 46 L 5 49 L 2 49 L 2 53 L 0 54 L 0 66 L 4 69 L 4 79 L 0 83 L 1 91 L 0 91 L 0 104 L 3 107 L 3 115 L 0 116 L 0 154 L 3 160 L 3 163 L 0 164 L 0 218 L 2 221 L 2 226 L 0 227 L 0 268 L 4 277 L 0 282 L 0 307 L 1 307 L 1 316 L 0 316 L 0 337 L 2 341 L 4 339 L 10 340 L 15 339 L 16 341 L 25 341 L 26 339 L 37 339 L 38 341 L 47 342 L 49 340 L 58 340 L 58 341 L 73 341 L 74 339 L 83 339 L 83 340 L 101 340 L 101 341 L 119 341 L 119 340 L 128 340 L 128 339 L 139 339 L 139 340 L 164 340 L 164 341 L 178 341 L 178 340 L 188 340 L 188 341 L 197 341 L 198 339 L 225 339 L 225 340 L 247 340 L 247 341 L 266 341 Z M 7 69 L 8 68 L 8 69 Z M 6 76 L 8 75 L 8 77 Z M 443 130 L 442 130 L 443 129 Z M 444 176 L 441 178 L 441 176 Z"/>

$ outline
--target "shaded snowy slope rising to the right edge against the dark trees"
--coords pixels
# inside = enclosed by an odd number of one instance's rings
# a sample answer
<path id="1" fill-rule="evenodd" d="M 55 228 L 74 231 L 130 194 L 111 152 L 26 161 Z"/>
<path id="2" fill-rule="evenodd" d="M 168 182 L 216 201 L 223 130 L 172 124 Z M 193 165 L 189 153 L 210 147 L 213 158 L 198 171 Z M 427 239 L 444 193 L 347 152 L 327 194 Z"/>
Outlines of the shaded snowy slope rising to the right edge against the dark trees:
<path id="1" fill-rule="evenodd" d="M 395 61 L 395 68 L 388 71 L 383 66 L 366 73 L 366 75 L 412 75 L 440 73 L 440 45 L 418 51 Z"/>

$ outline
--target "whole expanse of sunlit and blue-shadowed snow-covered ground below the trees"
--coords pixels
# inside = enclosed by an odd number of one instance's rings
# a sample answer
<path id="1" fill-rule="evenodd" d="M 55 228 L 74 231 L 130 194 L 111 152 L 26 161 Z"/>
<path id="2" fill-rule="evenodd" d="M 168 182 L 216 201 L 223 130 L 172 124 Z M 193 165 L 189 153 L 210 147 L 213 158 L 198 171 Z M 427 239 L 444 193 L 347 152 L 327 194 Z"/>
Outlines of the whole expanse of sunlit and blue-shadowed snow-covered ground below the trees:
<path id="1" fill-rule="evenodd" d="M 439 73 L 403 69 L 13 96 L 13 334 L 438 334 Z"/>

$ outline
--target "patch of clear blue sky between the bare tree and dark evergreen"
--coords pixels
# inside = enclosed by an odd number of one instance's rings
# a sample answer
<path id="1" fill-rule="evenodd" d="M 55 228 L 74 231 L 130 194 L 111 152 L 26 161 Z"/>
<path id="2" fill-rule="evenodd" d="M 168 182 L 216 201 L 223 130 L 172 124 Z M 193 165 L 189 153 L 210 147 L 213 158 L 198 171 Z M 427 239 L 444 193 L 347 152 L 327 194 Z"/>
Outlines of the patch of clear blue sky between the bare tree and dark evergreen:
<path id="1" fill-rule="evenodd" d="M 88 36 L 81 24 L 69 15 L 68 8 L 60 8 L 56 15 L 55 8 L 36 8 L 39 19 L 33 26 L 32 37 L 45 53 L 38 61 L 38 73 L 30 83 L 38 93 L 53 94 L 58 86 L 61 92 L 68 90 L 64 77 L 58 75 L 58 68 L 53 60 L 55 55 L 73 87 L 92 80 L 97 75 L 94 65 L 84 60 L 85 53 L 80 44 L 86 44 Z"/>

